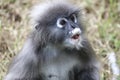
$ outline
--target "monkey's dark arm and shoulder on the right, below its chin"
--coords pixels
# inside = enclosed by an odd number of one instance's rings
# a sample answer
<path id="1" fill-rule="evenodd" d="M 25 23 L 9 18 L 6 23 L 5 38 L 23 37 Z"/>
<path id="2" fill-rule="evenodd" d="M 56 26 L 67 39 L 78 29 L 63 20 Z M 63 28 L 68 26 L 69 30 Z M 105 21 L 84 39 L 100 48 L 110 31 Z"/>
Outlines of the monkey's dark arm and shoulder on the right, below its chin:
<path id="1" fill-rule="evenodd" d="M 83 62 L 82 69 L 76 74 L 78 79 L 75 80 L 100 80 L 100 64 L 90 43 L 86 40 L 83 48 L 79 52 L 80 59 Z"/>

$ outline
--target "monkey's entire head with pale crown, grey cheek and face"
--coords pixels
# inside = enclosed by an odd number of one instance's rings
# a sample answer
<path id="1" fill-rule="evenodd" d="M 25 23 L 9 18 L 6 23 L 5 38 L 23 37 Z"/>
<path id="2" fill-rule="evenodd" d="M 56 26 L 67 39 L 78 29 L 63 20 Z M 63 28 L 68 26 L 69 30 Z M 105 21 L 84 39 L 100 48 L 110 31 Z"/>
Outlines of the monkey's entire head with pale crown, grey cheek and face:
<path id="1" fill-rule="evenodd" d="M 41 44 L 79 49 L 84 33 L 79 13 L 77 7 L 65 2 L 35 6 L 30 15 L 35 27 L 35 40 Z"/>

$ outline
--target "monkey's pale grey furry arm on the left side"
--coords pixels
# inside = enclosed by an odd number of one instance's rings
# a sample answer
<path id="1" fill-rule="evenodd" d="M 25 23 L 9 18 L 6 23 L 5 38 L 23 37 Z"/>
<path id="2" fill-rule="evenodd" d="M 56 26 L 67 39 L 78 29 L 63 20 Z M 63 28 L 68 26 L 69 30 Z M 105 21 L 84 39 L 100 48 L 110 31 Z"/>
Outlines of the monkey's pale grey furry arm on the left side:
<path id="1" fill-rule="evenodd" d="M 12 61 L 4 80 L 42 80 L 32 46 L 31 40 L 27 40 L 20 53 Z"/>

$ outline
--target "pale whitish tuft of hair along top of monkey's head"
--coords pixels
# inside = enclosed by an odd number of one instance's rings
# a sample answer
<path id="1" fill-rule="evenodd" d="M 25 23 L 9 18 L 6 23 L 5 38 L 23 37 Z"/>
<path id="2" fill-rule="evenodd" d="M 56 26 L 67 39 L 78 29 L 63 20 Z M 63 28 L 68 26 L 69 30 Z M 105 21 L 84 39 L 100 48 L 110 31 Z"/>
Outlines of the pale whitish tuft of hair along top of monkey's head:
<path id="1" fill-rule="evenodd" d="M 78 8 L 70 3 L 67 0 L 47 0 L 41 4 L 37 4 L 32 7 L 32 10 L 30 11 L 30 23 L 33 27 L 38 25 L 38 22 L 44 19 L 44 15 L 49 15 L 49 12 L 53 8 L 58 7 L 68 7 L 69 9 L 77 10 Z M 53 11 L 54 12 L 54 11 Z"/>

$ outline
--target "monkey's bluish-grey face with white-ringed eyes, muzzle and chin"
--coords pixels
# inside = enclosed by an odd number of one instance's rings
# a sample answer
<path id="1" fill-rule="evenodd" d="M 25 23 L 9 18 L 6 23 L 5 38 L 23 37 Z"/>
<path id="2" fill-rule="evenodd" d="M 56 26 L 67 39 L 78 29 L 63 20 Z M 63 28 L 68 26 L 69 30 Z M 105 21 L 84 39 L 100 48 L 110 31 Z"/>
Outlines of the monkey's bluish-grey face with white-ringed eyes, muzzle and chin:
<path id="1" fill-rule="evenodd" d="M 70 14 L 68 17 L 60 17 L 56 21 L 58 31 L 58 40 L 62 39 L 62 44 L 68 48 L 82 47 L 82 29 L 80 28 L 79 19 L 76 13 Z"/>

